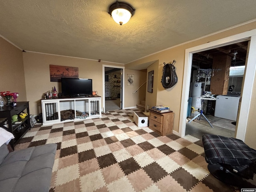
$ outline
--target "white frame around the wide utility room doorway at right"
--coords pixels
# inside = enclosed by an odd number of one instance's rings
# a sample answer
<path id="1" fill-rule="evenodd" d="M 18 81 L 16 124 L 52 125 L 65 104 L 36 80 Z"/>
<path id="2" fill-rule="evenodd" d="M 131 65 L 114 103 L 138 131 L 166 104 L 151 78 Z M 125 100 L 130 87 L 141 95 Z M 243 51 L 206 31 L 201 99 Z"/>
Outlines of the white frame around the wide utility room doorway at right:
<path id="1" fill-rule="evenodd" d="M 252 86 L 256 71 L 256 29 L 236 34 L 230 37 L 226 37 L 213 42 L 208 42 L 199 46 L 188 48 L 185 50 L 185 62 L 184 62 L 184 74 L 182 83 L 182 98 L 180 106 L 180 120 L 179 120 L 179 131 L 178 135 L 181 137 L 185 136 L 186 131 L 186 115 L 188 109 L 188 96 L 190 88 L 190 76 L 192 68 L 192 56 L 196 52 L 210 50 L 221 46 L 234 44 L 236 42 L 242 42 L 250 40 L 248 43 L 248 54 L 246 59 L 245 75 L 242 85 L 242 95 L 239 102 L 238 119 L 236 138 L 243 140 L 245 139 L 246 127 L 248 124 L 249 107 L 252 99 Z"/>

